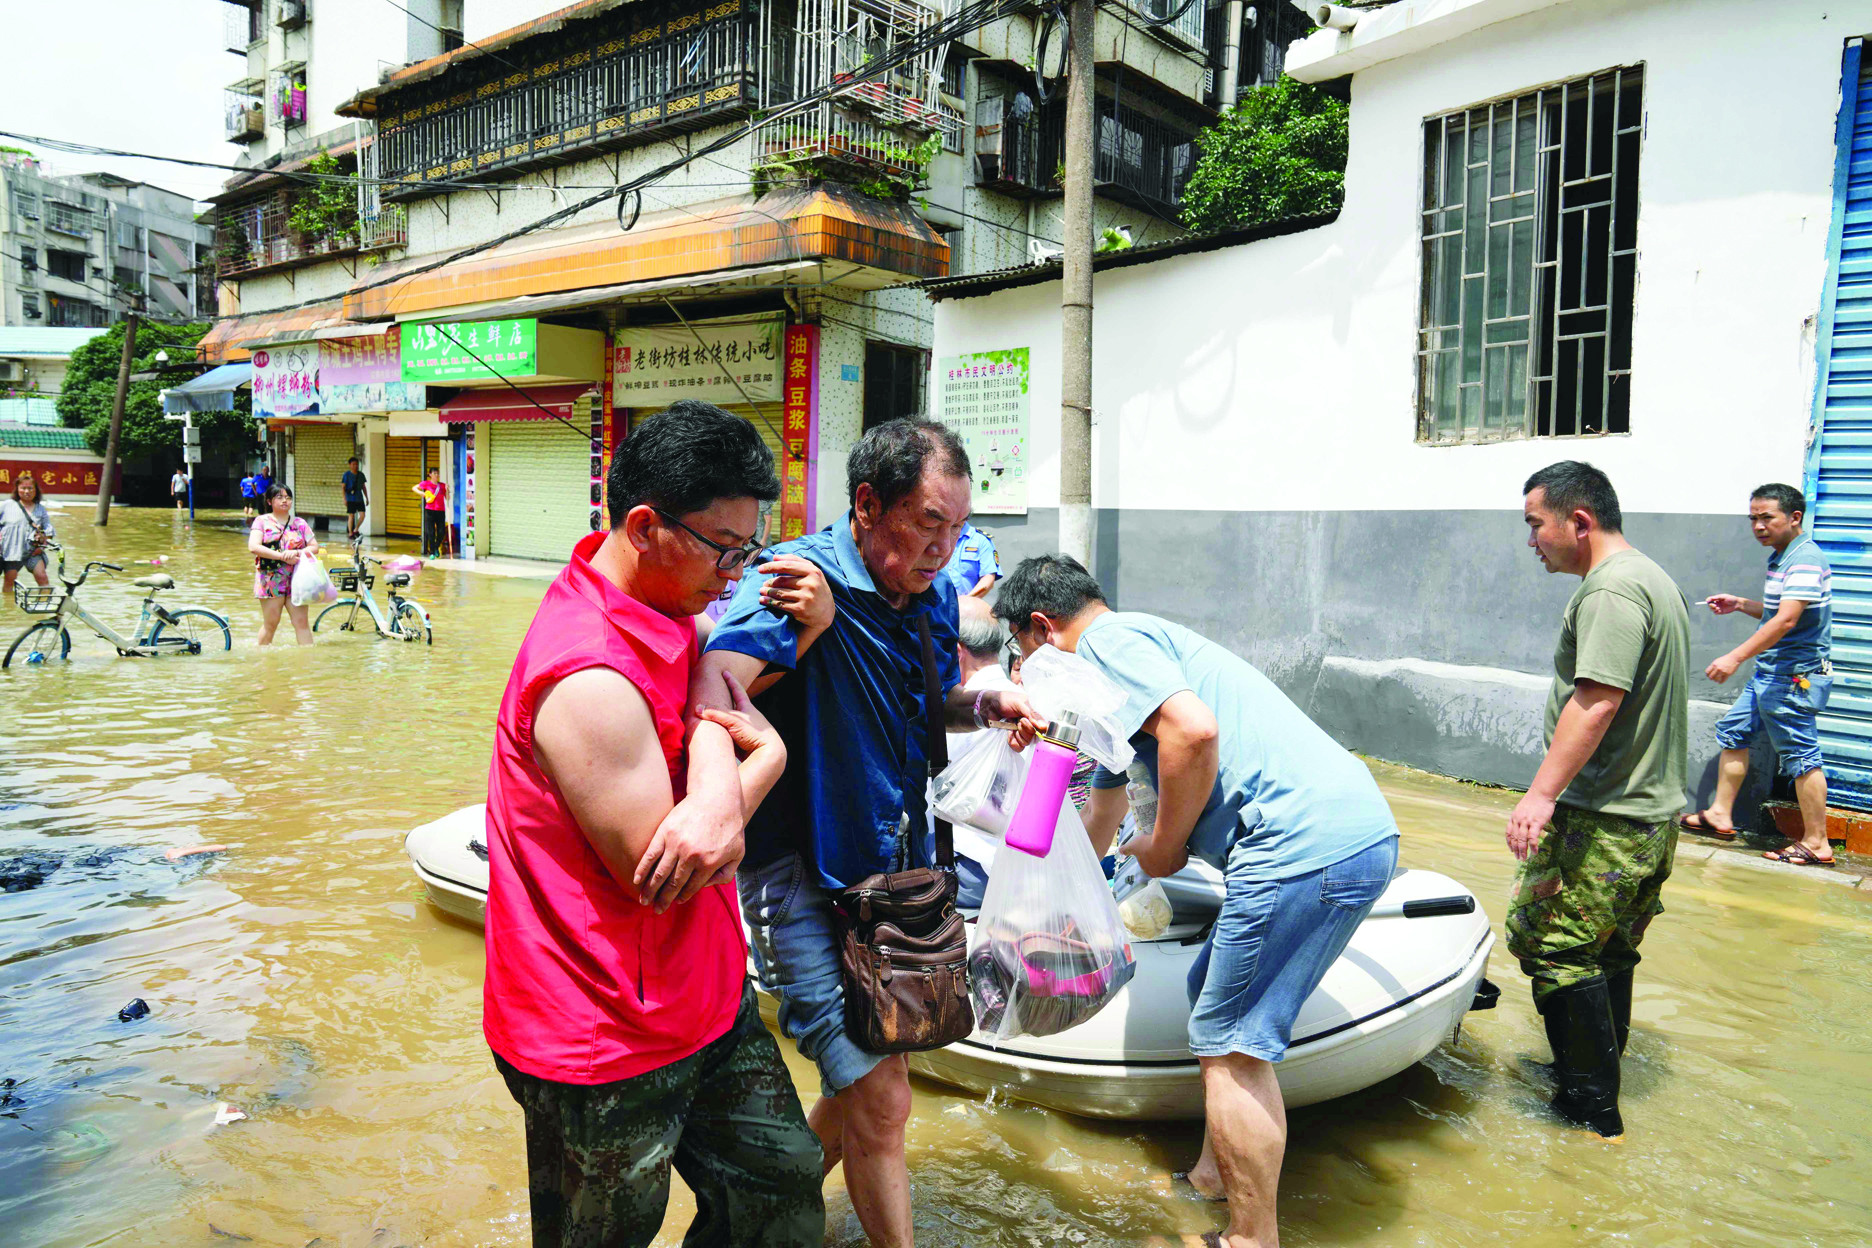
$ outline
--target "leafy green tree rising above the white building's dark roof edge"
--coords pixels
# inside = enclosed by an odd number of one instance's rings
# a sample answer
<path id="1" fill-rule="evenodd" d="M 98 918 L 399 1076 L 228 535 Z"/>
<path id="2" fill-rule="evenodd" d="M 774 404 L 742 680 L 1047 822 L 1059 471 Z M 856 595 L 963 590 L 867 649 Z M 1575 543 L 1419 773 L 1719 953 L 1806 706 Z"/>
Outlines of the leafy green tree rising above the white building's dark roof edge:
<path id="1" fill-rule="evenodd" d="M 1333 211 L 1346 198 L 1344 101 L 1282 77 L 1196 137 L 1183 225 L 1221 230 Z"/>

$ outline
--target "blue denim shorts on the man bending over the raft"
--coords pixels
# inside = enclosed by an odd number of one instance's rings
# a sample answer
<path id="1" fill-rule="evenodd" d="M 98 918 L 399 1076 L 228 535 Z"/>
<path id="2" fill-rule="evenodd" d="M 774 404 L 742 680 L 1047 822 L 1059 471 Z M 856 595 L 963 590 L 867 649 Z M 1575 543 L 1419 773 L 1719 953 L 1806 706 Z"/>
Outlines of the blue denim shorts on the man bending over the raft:
<path id="1" fill-rule="evenodd" d="M 1398 838 L 1387 836 L 1290 879 L 1226 872 L 1222 913 L 1189 969 L 1189 1052 L 1280 1061 L 1299 1007 L 1338 962 L 1397 864 Z"/>

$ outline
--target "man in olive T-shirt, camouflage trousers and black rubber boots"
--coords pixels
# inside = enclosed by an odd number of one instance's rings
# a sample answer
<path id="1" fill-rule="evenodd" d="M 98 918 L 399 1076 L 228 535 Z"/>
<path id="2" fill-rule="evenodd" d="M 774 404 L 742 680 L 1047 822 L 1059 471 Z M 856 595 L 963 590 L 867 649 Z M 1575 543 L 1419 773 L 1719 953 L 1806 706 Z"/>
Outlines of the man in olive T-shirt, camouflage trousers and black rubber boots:
<path id="1" fill-rule="evenodd" d="M 1554 1046 L 1554 1110 L 1619 1136 L 1632 967 L 1664 909 L 1689 778 L 1690 608 L 1625 541 L 1602 472 L 1563 460 L 1522 492 L 1528 544 L 1582 580 L 1554 647 L 1546 756 L 1509 816 L 1522 868 L 1507 943 Z"/>

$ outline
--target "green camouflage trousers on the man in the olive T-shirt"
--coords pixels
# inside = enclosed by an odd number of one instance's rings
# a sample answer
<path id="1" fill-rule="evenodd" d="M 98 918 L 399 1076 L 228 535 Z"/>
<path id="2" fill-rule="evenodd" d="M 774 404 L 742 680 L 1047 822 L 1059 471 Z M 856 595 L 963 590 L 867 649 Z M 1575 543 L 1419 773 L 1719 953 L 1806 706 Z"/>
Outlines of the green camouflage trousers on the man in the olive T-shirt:
<path id="1" fill-rule="evenodd" d="M 1554 806 L 1522 863 L 1509 906 L 1509 952 L 1533 980 L 1533 1001 L 1593 975 L 1638 965 L 1638 941 L 1664 911 L 1677 825 Z"/>

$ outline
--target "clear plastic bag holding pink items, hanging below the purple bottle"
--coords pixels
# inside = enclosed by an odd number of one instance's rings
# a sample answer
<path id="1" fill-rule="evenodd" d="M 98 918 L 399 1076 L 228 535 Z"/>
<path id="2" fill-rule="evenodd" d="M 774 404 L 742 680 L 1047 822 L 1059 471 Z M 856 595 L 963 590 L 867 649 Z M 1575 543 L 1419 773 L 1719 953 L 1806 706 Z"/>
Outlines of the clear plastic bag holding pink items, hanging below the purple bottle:
<path id="1" fill-rule="evenodd" d="M 996 1040 L 1076 1027 L 1138 969 L 1073 803 L 1061 803 L 1046 857 L 994 857 L 975 930 L 968 958 L 975 1027 Z"/>

